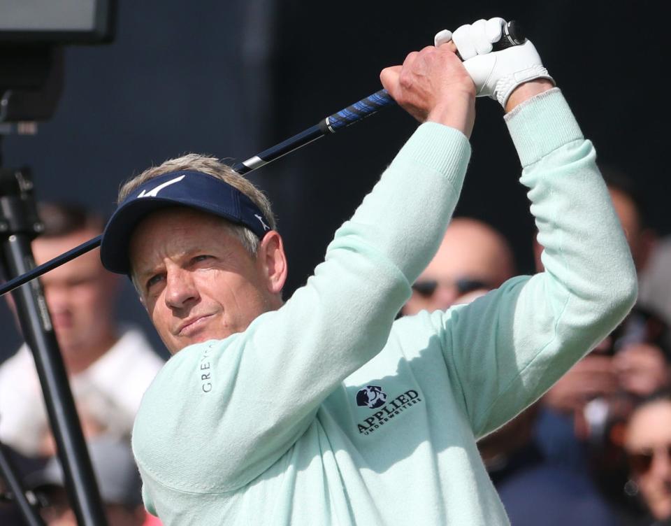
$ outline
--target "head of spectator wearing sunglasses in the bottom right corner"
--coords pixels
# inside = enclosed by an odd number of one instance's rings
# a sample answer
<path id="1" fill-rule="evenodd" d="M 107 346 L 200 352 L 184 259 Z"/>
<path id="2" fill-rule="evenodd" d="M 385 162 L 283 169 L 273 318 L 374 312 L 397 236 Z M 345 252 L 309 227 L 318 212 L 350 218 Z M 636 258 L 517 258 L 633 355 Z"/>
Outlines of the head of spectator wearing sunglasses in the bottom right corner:
<path id="1" fill-rule="evenodd" d="M 671 392 L 644 399 L 630 415 L 624 438 L 630 492 L 649 516 L 641 526 L 671 525 Z"/>

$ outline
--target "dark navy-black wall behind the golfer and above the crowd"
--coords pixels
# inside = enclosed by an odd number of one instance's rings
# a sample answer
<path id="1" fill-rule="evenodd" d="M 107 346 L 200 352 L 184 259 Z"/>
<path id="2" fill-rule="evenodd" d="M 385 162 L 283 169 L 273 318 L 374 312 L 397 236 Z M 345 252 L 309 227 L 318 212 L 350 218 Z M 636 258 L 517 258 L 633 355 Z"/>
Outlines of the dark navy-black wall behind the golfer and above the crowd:
<path id="1" fill-rule="evenodd" d="M 668 234 L 663 6 L 120 0 L 115 42 L 66 50 L 55 117 L 36 136 L 6 138 L 3 162 L 31 166 L 38 198 L 110 213 L 120 183 L 150 164 L 189 151 L 245 159 L 378 90 L 380 69 L 430 44 L 438 30 L 501 15 L 524 24 L 599 159 L 632 176 L 651 225 Z M 533 220 L 503 111 L 489 100 L 477 111 L 457 213 L 498 227 L 520 270 L 531 272 Z M 270 195 L 287 241 L 287 295 L 305 282 L 335 228 L 415 126 L 392 108 L 252 174 Z M 120 317 L 148 328 L 125 285 Z M 4 306 L 0 331 L 1 359 L 21 341 Z"/>

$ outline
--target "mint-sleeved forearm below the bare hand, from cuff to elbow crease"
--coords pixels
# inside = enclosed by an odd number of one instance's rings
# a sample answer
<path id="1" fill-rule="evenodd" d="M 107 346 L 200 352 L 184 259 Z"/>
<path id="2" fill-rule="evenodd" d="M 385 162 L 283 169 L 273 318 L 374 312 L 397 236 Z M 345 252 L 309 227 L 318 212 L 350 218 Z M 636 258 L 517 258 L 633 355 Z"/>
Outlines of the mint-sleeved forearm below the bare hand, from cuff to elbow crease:
<path id="1" fill-rule="evenodd" d="M 355 236 L 413 283 L 438 248 L 469 159 L 470 145 L 459 131 L 421 125 L 329 248 Z"/>

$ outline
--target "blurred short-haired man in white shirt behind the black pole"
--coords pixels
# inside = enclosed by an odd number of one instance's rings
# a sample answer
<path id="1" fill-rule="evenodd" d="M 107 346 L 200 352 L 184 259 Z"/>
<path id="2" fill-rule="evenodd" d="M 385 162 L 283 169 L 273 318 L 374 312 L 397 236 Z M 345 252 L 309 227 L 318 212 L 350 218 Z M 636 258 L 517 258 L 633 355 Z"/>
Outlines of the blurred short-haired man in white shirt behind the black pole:
<path id="1" fill-rule="evenodd" d="M 44 263 L 101 233 L 102 218 L 78 206 L 43 204 L 45 225 L 32 243 Z M 94 250 L 42 278 L 57 341 L 85 436 L 128 439 L 143 392 L 163 361 L 138 329 L 117 327 L 117 276 Z M 27 456 L 52 455 L 55 446 L 29 348 L 0 366 L 0 441 Z"/>

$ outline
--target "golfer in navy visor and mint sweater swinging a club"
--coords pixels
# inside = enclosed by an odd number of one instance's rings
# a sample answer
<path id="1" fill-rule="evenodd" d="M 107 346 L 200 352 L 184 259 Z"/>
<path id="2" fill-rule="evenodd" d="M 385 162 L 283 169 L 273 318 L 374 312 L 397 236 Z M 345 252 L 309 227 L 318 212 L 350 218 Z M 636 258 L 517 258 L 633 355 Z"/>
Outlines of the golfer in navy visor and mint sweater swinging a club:
<path id="1" fill-rule="evenodd" d="M 165 525 L 507 524 L 475 441 L 603 339 L 636 281 L 593 146 L 533 45 L 491 52 L 503 23 L 443 31 L 382 71 L 423 124 L 285 303 L 268 201 L 231 169 L 187 155 L 122 188 L 103 264 L 131 276 L 173 353 L 133 435 Z M 507 112 L 546 271 L 394 321 L 459 198 L 477 96 Z"/>

